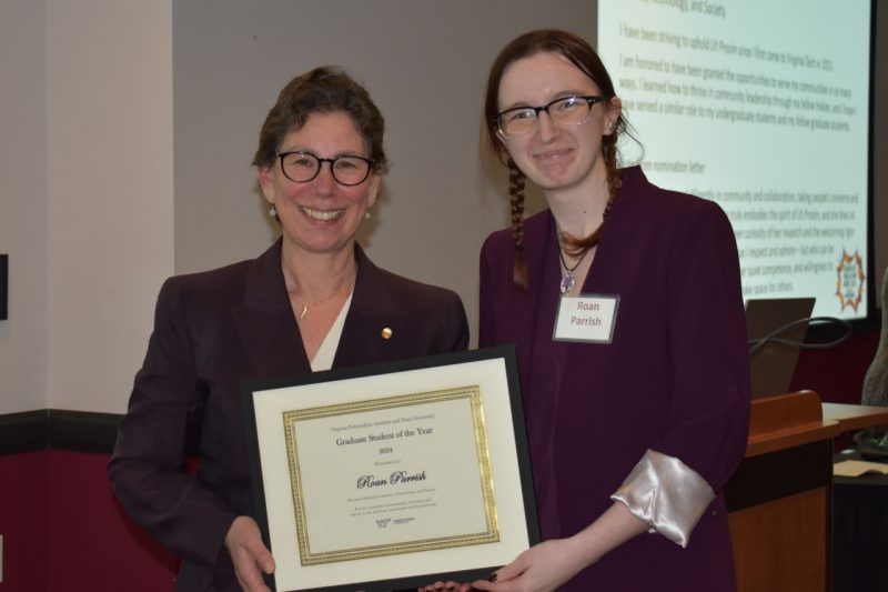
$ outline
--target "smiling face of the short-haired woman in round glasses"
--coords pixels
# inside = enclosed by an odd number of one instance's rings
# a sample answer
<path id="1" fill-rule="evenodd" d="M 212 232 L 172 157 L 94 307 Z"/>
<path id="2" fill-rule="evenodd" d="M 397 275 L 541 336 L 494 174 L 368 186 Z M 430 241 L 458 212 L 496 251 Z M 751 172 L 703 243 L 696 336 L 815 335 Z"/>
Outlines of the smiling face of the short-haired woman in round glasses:
<path id="1" fill-rule="evenodd" d="M 339 111 L 312 113 L 302 128 L 284 136 L 280 152 L 291 151 L 311 152 L 325 159 L 370 157 L 367 142 L 352 119 Z M 317 177 L 297 183 L 283 174 L 281 161 L 275 159 L 271 167 L 259 168 L 259 184 L 278 210 L 286 248 L 339 253 L 351 252 L 357 227 L 376 201 L 380 175 L 371 171 L 363 183 L 346 187 L 333 179 L 330 163 L 324 162 Z"/>

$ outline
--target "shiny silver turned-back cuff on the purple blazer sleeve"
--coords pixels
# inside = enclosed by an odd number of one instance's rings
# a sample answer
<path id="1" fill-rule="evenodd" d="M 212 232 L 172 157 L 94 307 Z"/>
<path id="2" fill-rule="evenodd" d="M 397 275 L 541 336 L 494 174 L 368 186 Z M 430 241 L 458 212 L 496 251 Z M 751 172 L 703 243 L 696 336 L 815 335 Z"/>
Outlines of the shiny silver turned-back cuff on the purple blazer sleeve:
<path id="1" fill-rule="evenodd" d="M 610 499 L 624 503 L 650 532 L 687 546 L 715 492 L 675 456 L 648 450 Z"/>

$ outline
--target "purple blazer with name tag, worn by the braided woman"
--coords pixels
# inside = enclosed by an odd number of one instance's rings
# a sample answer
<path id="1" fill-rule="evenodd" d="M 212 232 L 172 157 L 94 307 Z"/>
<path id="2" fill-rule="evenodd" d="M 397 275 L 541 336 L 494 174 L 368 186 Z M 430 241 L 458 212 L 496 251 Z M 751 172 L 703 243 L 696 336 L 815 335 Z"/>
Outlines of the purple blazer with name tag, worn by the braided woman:
<path id="1" fill-rule="evenodd" d="M 582 290 L 619 297 L 609 344 L 552 339 L 561 267 L 548 211 L 525 221 L 526 292 L 512 283 L 514 252 L 508 230 L 484 243 L 478 339 L 517 345 L 543 536 L 597 519 L 647 449 L 680 459 L 717 494 L 686 549 L 636 536 L 563 590 L 735 590 L 722 490 L 746 448 L 749 370 L 727 217 L 624 170 Z"/>

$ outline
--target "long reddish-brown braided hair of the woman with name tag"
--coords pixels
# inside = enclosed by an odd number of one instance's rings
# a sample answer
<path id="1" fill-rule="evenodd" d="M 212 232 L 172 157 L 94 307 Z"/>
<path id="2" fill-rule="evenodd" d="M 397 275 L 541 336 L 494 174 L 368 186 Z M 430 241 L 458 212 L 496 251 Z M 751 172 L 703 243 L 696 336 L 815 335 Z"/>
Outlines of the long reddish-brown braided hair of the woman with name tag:
<path id="1" fill-rule="evenodd" d="M 500 54 L 496 57 L 491 73 L 487 77 L 487 91 L 484 98 L 484 130 L 483 141 L 500 159 L 501 162 L 508 168 L 508 193 L 512 211 L 512 235 L 515 239 L 515 265 L 513 280 L 515 287 L 519 290 L 527 288 L 527 268 L 524 263 L 524 228 L 522 220 L 524 218 L 524 173 L 515 165 L 515 162 L 508 158 L 507 151 L 503 143 L 496 136 L 496 114 L 500 112 L 498 96 L 500 83 L 503 80 L 503 73 L 506 68 L 513 62 L 523 58 L 529 58 L 536 53 L 551 52 L 564 56 L 571 63 L 576 66 L 593 82 L 595 82 L 602 90 L 602 94 L 608 99 L 616 96 L 614 91 L 614 83 L 610 81 L 610 76 L 602 63 L 602 59 L 592 49 L 583 38 L 568 33 L 567 31 L 559 31 L 556 29 L 539 29 L 524 33 L 509 42 Z M 619 134 L 625 132 L 627 122 L 620 113 L 614 124 L 614 132 L 609 136 L 602 137 L 602 155 L 604 158 L 605 168 L 607 170 L 607 189 L 608 201 L 605 205 L 604 214 L 610 210 L 610 204 L 614 198 L 619 192 L 620 177 L 617 169 L 617 140 Z M 576 239 L 569 234 L 563 233 L 559 239 L 565 243 L 568 252 L 574 254 L 582 253 L 591 249 L 598 242 L 598 230 L 591 235 Z"/>

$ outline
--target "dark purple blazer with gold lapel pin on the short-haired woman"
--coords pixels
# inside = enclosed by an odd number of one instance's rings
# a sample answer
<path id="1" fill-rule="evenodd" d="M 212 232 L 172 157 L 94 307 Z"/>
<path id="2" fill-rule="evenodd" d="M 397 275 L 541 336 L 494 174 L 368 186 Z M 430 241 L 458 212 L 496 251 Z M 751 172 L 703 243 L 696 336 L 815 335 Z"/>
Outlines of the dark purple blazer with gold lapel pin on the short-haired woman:
<path id="1" fill-rule="evenodd" d="M 333 368 L 464 350 L 460 298 L 374 265 L 357 278 Z M 391 339 L 381 331 L 392 330 Z M 252 514 L 243 379 L 311 372 L 281 271 L 281 241 L 259 259 L 174 277 L 120 425 L 109 476 L 133 520 L 182 558 L 176 590 L 240 590 L 223 540 Z M 200 458 L 195 476 L 185 455 Z"/>

